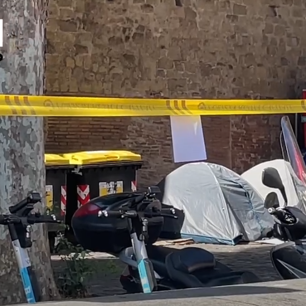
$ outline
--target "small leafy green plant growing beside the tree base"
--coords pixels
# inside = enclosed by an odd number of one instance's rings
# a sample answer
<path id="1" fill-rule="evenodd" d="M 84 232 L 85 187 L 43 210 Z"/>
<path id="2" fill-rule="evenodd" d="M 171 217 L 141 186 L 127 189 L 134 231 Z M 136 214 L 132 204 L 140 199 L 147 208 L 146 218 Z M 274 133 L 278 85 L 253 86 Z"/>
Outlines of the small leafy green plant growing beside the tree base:
<path id="1" fill-rule="evenodd" d="M 80 245 L 73 245 L 64 236 L 60 236 L 56 248 L 64 263 L 64 268 L 56 275 L 60 294 L 70 298 L 88 296 L 86 281 L 93 273 L 86 260 L 89 252 Z"/>

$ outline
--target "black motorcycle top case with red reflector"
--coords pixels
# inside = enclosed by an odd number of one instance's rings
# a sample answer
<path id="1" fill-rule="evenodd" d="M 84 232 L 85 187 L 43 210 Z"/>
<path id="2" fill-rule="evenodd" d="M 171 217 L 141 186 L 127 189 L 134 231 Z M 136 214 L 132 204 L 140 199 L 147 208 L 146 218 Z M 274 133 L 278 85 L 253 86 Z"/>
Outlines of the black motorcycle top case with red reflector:
<path id="1" fill-rule="evenodd" d="M 128 200 L 140 195 L 135 192 L 109 194 L 94 198 L 81 206 L 71 220 L 77 241 L 87 250 L 118 254 L 124 248 L 132 246 L 127 219 L 98 217 L 101 210 L 120 210 Z M 161 207 L 159 200 L 153 200 L 150 206 Z M 157 241 L 162 231 L 163 217 L 148 219 L 148 241 Z"/>

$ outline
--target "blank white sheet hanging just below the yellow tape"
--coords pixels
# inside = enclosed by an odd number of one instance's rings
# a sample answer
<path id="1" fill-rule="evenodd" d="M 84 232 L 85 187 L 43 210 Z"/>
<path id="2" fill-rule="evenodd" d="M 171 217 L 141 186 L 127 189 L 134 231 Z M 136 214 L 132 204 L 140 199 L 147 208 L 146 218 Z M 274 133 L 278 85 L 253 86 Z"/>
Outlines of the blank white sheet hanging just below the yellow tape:
<path id="1" fill-rule="evenodd" d="M 200 116 L 171 116 L 174 163 L 207 159 Z"/>

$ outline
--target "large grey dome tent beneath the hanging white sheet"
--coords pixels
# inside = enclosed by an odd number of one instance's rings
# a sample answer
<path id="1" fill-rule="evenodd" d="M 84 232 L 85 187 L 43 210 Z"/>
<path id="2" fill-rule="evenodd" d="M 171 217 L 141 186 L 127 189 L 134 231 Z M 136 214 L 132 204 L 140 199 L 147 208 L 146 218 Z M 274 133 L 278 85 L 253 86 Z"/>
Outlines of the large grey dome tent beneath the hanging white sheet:
<path id="1" fill-rule="evenodd" d="M 220 165 L 184 165 L 168 174 L 159 187 L 165 205 L 185 212 L 183 238 L 236 244 L 240 239 L 260 239 L 274 223 L 251 185 Z"/>

